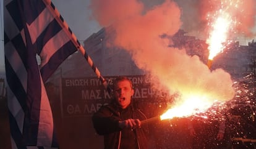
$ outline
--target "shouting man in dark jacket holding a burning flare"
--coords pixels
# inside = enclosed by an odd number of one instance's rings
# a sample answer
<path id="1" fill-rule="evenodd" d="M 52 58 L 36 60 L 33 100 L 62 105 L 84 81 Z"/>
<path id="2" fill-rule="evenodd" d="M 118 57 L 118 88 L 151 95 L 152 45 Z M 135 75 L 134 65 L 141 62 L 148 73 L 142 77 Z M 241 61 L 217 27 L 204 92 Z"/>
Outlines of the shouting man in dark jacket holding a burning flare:
<path id="1" fill-rule="evenodd" d="M 103 105 L 92 116 L 93 127 L 99 135 L 104 135 L 105 149 L 150 148 L 150 134 L 153 124 L 142 124 L 144 119 L 158 113 L 153 107 L 135 103 L 132 100 L 134 89 L 129 78 L 121 76 L 113 83 L 113 100 Z"/>

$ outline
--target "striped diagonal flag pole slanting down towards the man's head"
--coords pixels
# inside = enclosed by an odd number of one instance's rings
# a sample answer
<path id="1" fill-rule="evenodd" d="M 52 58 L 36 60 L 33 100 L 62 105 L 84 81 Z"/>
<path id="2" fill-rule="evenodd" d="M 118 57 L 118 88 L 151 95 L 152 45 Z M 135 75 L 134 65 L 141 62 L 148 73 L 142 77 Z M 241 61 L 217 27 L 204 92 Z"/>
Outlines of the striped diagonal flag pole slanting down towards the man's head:
<path id="1" fill-rule="evenodd" d="M 100 81 L 103 84 L 103 86 L 105 87 L 105 89 L 110 93 L 111 88 L 109 87 L 108 82 L 101 75 L 100 70 L 98 70 L 98 68 L 94 65 L 92 58 L 90 58 L 90 56 L 87 54 L 86 50 L 83 48 L 83 46 L 81 46 L 81 44 L 77 40 L 75 34 L 72 33 L 72 31 L 69 28 L 69 25 L 67 25 L 66 21 L 62 18 L 61 14 L 59 14 L 58 9 L 56 9 L 56 7 L 54 7 L 53 2 L 51 2 L 51 0 L 43 0 L 43 2 L 45 2 L 46 7 L 48 7 L 48 9 L 51 10 L 52 14 L 54 15 L 54 18 L 56 18 L 59 25 L 61 25 L 62 28 L 66 29 L 64 31 L 66 32 L 66 34 L 68 35 L 70 40 L 73 42 L 75 47 L 77 47 L 77 49 L 79 49 L 79 51 L 82 53 L 83 57 L 87 60 L 88 64 L 90 65 L 90 67 L 92 68 L 94 73 L 96 74 L 97 78 L 100 79 Z"/>

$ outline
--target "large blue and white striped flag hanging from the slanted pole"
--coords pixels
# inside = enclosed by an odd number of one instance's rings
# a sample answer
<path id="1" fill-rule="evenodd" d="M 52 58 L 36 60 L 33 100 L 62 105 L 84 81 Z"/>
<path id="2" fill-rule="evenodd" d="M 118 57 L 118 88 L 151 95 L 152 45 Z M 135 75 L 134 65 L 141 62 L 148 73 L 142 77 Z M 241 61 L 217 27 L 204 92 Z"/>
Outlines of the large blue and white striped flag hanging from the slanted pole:
<path id="1" fill-rule="evenodd" d="M 74 41 L 50 0 L 4 0 L 12 148 L 59 148 L 44 83 L 80 46 Z M 40 55 L 40 64 L 36 55 Z"/>

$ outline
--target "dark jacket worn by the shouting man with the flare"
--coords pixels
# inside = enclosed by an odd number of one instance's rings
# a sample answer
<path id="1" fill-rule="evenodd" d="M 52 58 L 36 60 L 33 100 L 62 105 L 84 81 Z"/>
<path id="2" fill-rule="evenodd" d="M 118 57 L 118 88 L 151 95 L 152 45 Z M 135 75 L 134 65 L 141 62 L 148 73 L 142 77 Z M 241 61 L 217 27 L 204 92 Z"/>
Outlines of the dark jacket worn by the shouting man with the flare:
<path id="1" fill-rule="evenodd" d="M 139 103 L 131 103 L 126 109 L 121 109 L 115 102 L 111 102 L 93 115 L 93 126 L 99 135 L 104 135 L 105 149 L 147 149 L 150 131 L 153 129 L 150 124 L 130 130 L 119 128 L 118 123 L 129 118 L 138 118 L 140 121 L 151 118 L 152 110 Z"/>

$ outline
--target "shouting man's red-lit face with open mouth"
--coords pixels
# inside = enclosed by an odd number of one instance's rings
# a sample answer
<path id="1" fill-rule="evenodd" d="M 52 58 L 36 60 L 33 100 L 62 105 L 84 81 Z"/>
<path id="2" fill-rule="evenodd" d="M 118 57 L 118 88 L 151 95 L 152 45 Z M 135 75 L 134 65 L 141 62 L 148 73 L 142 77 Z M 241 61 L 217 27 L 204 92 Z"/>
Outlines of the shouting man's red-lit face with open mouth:
<path id="1" fill-rule="evenodd" d="M 119 81 L 114 87 L 114 98 L 122 109 L 130 104 L 132 95 L 134 95 L 134 89 L 127 80 Z"/>

